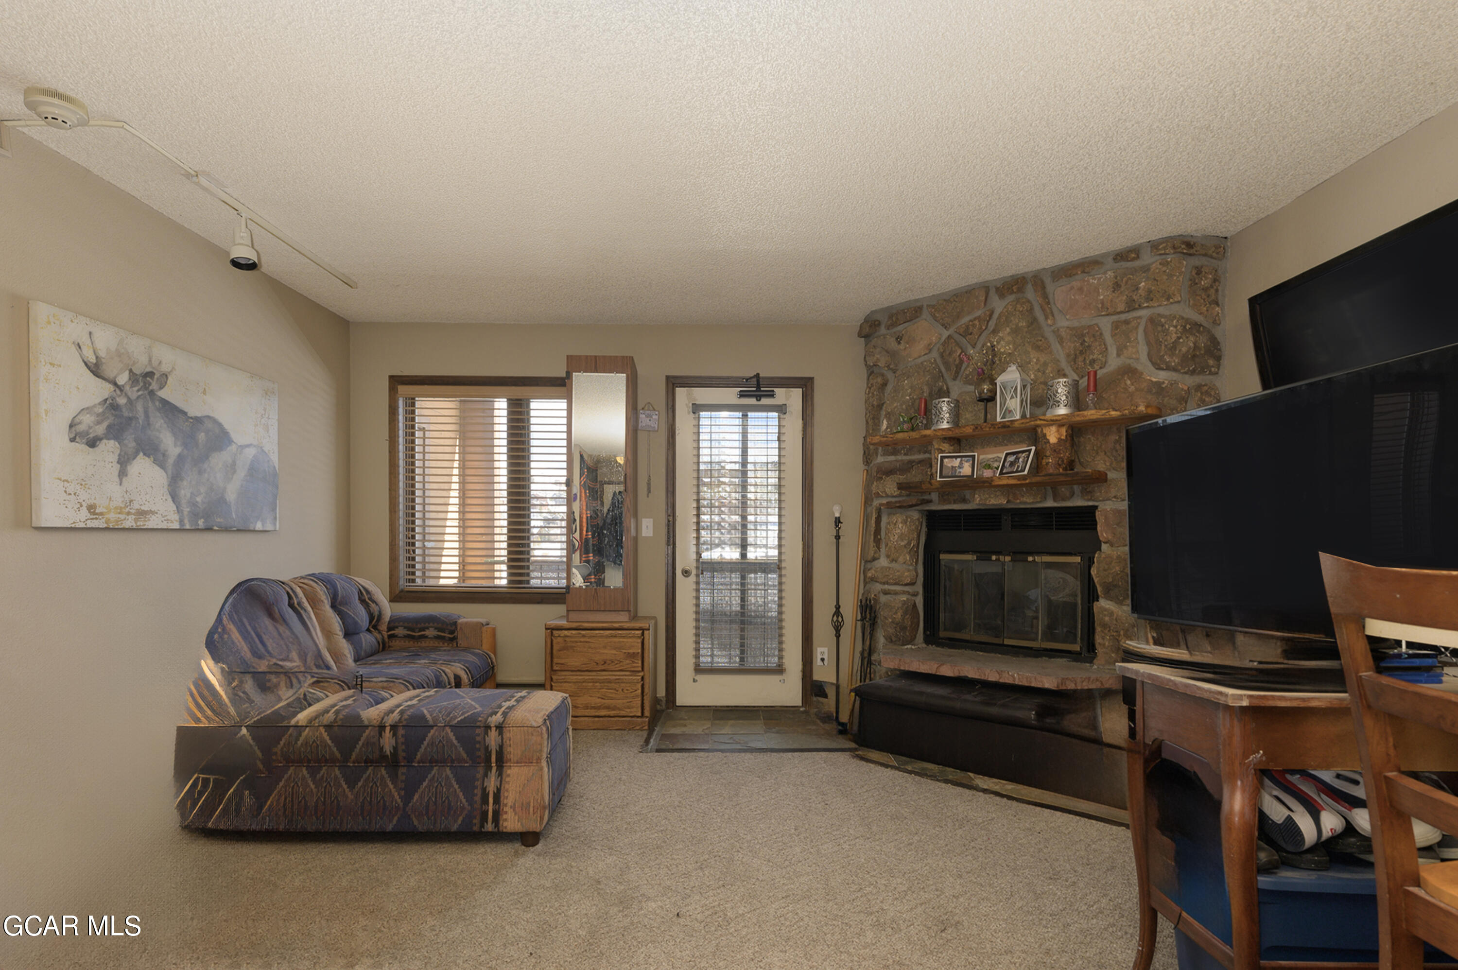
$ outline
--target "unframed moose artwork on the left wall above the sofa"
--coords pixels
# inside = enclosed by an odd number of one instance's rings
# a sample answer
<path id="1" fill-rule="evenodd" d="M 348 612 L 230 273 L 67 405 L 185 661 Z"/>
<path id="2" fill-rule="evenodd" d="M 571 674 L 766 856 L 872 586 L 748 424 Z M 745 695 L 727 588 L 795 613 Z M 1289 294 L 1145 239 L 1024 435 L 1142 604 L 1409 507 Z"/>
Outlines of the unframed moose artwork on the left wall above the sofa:
<path id="1" fill-rule="evenodd" d="M 278 385 L 31 303 L 31 522 L 278 528 Z"/>

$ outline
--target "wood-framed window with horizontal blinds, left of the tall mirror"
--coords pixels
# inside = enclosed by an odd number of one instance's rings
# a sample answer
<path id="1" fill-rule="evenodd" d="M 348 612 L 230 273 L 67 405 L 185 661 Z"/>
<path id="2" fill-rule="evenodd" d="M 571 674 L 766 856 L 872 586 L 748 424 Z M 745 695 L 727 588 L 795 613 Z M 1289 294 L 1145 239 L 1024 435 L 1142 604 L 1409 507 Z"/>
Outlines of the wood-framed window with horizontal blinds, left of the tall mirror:
<path id="1" fill-rule="evenodd" d="M 560 601 L 566 591 L 564 381 L 486 381 L 394 388 L 394 598 Z"/>

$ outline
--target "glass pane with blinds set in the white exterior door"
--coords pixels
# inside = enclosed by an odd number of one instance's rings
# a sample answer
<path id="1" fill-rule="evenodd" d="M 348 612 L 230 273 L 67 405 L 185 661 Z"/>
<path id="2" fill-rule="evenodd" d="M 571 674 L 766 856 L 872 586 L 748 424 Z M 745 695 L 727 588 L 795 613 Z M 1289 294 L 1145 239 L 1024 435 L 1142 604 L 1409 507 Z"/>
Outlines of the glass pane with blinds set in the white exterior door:
<path id="1" fill-rule="evenodd" d="M 783 404 L 694 404 L 695 667 L 784 668 Z"/>

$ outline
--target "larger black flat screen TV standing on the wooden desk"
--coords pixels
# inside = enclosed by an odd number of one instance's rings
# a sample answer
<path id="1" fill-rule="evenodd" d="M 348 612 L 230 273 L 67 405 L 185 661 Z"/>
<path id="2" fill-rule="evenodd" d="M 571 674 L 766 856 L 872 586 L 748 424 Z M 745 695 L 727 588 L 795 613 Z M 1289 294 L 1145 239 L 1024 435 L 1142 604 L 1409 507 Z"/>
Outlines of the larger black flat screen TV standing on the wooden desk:
<path id="1" fill-rule="evenodd" d="M 1458 569 L 1458 344 L 1128 429 L 1131 608 L 1331 637 L 1317 553 Z"/>

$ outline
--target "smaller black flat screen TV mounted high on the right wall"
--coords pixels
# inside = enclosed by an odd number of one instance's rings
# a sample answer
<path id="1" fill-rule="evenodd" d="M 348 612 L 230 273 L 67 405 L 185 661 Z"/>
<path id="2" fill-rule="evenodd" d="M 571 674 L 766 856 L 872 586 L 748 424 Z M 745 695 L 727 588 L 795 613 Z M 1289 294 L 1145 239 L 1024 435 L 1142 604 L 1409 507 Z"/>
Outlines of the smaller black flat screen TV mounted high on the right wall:
<path id="1" fill-rule="evenodd" d="M 1458 341 L 1458 201 L 1250 299 L 1263 388 Z"/>

